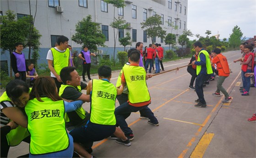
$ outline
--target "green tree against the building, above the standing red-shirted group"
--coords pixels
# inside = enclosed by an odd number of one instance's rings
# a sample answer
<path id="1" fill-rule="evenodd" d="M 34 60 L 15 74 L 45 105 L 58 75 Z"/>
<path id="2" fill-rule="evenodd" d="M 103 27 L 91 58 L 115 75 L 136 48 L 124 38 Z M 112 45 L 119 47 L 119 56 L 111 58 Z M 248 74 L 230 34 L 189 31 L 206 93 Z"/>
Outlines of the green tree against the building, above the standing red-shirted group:
<path id="1" fill-rule="evenodd" d="M 162 24 L 160 15 L 155 14 L 154 16 L 150 16 L 145 22 L 141 22 L 140 24 L 141 28 L 147 32 L 148 37 L 151 38 L 152 43 L 154 43 L 153 37 L 165 37 L 166 31 L 160 26 Z"/>

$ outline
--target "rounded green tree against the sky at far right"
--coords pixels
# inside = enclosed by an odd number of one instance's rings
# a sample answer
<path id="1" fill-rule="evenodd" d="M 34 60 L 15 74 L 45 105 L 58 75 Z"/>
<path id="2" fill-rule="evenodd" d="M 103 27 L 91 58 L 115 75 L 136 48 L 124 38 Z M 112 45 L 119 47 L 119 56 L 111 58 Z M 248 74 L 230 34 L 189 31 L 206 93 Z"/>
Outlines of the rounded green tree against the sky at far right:
<path id="1" fill-rule="evenodd" d="M 229 46 L 230 47 L 238 47 L 241 43 L 241 38 L 243 37 L 243 33 L 241 32 L 240 27 L 238 27 L 237 25 L 234 26 L 234 28 L 232 29 L 232 33 L 229 37 Z"/>

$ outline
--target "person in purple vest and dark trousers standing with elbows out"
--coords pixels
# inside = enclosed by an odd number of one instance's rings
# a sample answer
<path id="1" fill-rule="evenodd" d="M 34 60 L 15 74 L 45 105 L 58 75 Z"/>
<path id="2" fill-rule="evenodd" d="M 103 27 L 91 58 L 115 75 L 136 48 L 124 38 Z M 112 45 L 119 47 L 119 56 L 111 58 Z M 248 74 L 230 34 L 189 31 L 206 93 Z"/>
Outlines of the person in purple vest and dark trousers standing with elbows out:
<path id="1" fill-rule="evenodd" d="M 91 80 L 91 76 L 90 76 L 90 69 L 91 69 L 91 57 L 90 56 L 91 55 L 94 56 L 94 57 L 96 56 L 95 53 L 91 53 L 88 50 L 87 46 L 83 46 L 83 50 L 78 55 L 78 57 L 83 60 L 83 73 L 82 73 L 82 76 L 83 76 L 83 81 L 85 81 L 85 82 L 86 82 L 86 80 L 85 80 L 85 73 L 86 72 L 87 72 L 88 80 Z"/>

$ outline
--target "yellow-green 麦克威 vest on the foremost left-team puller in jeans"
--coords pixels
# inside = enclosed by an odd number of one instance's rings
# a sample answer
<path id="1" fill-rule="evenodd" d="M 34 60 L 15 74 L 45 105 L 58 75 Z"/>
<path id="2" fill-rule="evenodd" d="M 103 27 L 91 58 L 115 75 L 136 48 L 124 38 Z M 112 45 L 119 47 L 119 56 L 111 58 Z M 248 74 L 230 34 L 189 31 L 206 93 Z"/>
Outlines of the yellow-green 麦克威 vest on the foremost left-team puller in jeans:
<path id="1" fill-rule="evenodd" d="M 144 68 L 140 66 L 123 67 L 123 74 L 129 91 L 129 102 L 134 104 L 149 101 L 150 95 Z"/>

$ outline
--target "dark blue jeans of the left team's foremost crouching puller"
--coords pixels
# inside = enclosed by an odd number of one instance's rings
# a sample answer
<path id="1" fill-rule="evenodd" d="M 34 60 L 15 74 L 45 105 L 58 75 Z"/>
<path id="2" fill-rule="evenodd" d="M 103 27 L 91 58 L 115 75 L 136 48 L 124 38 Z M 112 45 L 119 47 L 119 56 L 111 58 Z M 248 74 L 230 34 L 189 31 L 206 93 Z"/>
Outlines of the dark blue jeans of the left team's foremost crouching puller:
<path id="1" fill-rule="evenodd" d="M 152 123 L 158 123 L 157 119 L 154 116 L 154 113 L 148 108 L 148 105 L 136 107 L 129 105 L 128 102 L 125 102 L 118 106 L 115 110 L 117 124 L 120 126 L 125 135 L 133 133 L 133 131 L 131 130 L 131 128 L 128 127 L 128 124 L 125 121 L 125 116 L 126 114 L 137 111 L 143 111 L 144 116 L 148 117 Z"/>

